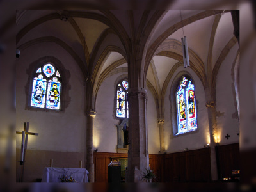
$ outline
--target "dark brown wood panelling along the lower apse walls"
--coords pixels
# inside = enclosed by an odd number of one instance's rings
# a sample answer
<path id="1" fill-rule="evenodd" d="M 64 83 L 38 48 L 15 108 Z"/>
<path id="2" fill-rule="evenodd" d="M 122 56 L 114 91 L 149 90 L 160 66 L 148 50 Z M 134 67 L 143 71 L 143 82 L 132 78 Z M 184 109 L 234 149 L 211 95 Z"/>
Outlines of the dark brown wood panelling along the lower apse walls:
<path id="1" fill-rule="evenodd" d="M 216 147 L 218 177 L 231 177 L 239 170 L 239 143 Z M 108 182 L 111 157 L 127 158 L 127 154 L 94 152 L 95 182 Z M 211 182 L 210 148 L 149 155 L 149 166 L 157 182 Z"/>

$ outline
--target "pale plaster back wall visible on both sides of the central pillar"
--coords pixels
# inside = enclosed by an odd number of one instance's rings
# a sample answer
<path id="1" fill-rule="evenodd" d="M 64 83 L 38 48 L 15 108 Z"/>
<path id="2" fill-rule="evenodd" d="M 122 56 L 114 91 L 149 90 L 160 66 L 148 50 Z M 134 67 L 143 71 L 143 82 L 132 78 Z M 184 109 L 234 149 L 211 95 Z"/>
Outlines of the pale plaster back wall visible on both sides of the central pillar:
<path id="1" fill-rule="evenodd" d="M 99 88 L 96 100 L 96 111 L 93 129 L 93 147 L 99 152 L 116 152 L 117 127 L 119 120 L 115 118 L 116 79 L 127 73 L 118 73 L 105 79 Z M 156 104 L 152 93 L 148 90 L 147 100 L 147 127 L 148 127 L 148 152 L 159 152 L 159 129 L 157 128 Z M 93 150 L 94 150 L 93 149 Z"/>

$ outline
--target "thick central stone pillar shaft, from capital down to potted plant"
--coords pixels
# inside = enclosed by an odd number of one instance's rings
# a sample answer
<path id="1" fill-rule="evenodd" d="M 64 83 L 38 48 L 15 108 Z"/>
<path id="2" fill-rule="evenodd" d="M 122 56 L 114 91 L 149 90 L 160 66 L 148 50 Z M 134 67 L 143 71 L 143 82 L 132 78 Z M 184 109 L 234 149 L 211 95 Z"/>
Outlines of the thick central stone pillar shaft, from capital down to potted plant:
<path id="1" fill-rule="evenodd" d="M 130 88 L 129 100 L 129 151 L 125 182 L 140 182 L 141 172 L 148 168 L 147 91 Z"/>

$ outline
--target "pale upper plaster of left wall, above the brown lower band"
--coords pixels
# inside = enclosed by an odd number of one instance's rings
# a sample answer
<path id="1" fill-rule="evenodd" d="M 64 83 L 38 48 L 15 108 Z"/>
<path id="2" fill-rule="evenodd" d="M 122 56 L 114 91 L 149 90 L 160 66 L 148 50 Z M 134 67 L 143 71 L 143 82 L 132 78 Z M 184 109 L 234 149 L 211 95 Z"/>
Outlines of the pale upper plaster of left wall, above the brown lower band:
<path id="1" fill-rule="evenodd" d="M 65 111 L 25 110 L 26 84 L 30 82 L 26 73 L 31 63 L 44 56 L 54 56 L 70 72 L 67 88 L 71 97 Z M 61 152 L 83 152 L 85 148 L 86 117 L 84 116 L 84 81 L 76 61 L 62 47 L 53 42 L 33 45 L 22 50 L 17 59 L 16 129 L 22 131 L 24 122 L 30 122 L 29 132 L 39 136 L 28 137 L 28 149 Z M 29 84 L 31 86 L 31 84 Z M 67 102 L 67 101 L 65 101 Z M 28 102 L 30 104 L 30 102 Z M 20 148 L 21 136 L 17 134 L 16 147 Z"/>

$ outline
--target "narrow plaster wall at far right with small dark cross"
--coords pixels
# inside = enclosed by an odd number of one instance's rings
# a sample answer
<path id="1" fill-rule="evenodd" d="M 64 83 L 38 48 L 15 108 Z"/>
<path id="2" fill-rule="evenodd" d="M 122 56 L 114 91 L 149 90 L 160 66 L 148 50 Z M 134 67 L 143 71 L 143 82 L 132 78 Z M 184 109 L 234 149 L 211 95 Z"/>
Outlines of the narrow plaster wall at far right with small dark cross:
<path id="1" fill-rule="evenodd" d="M 238 45 L 230 50 L 229 54 L 220 66 L 216 82 L 216 111 L 217 125 L 220 137 L 220 145 L 239 143 L 238 113 L 236 106 L 236 93 L 232 76 Z M 226 135 L 230 135 L 227 139 Z"/>

